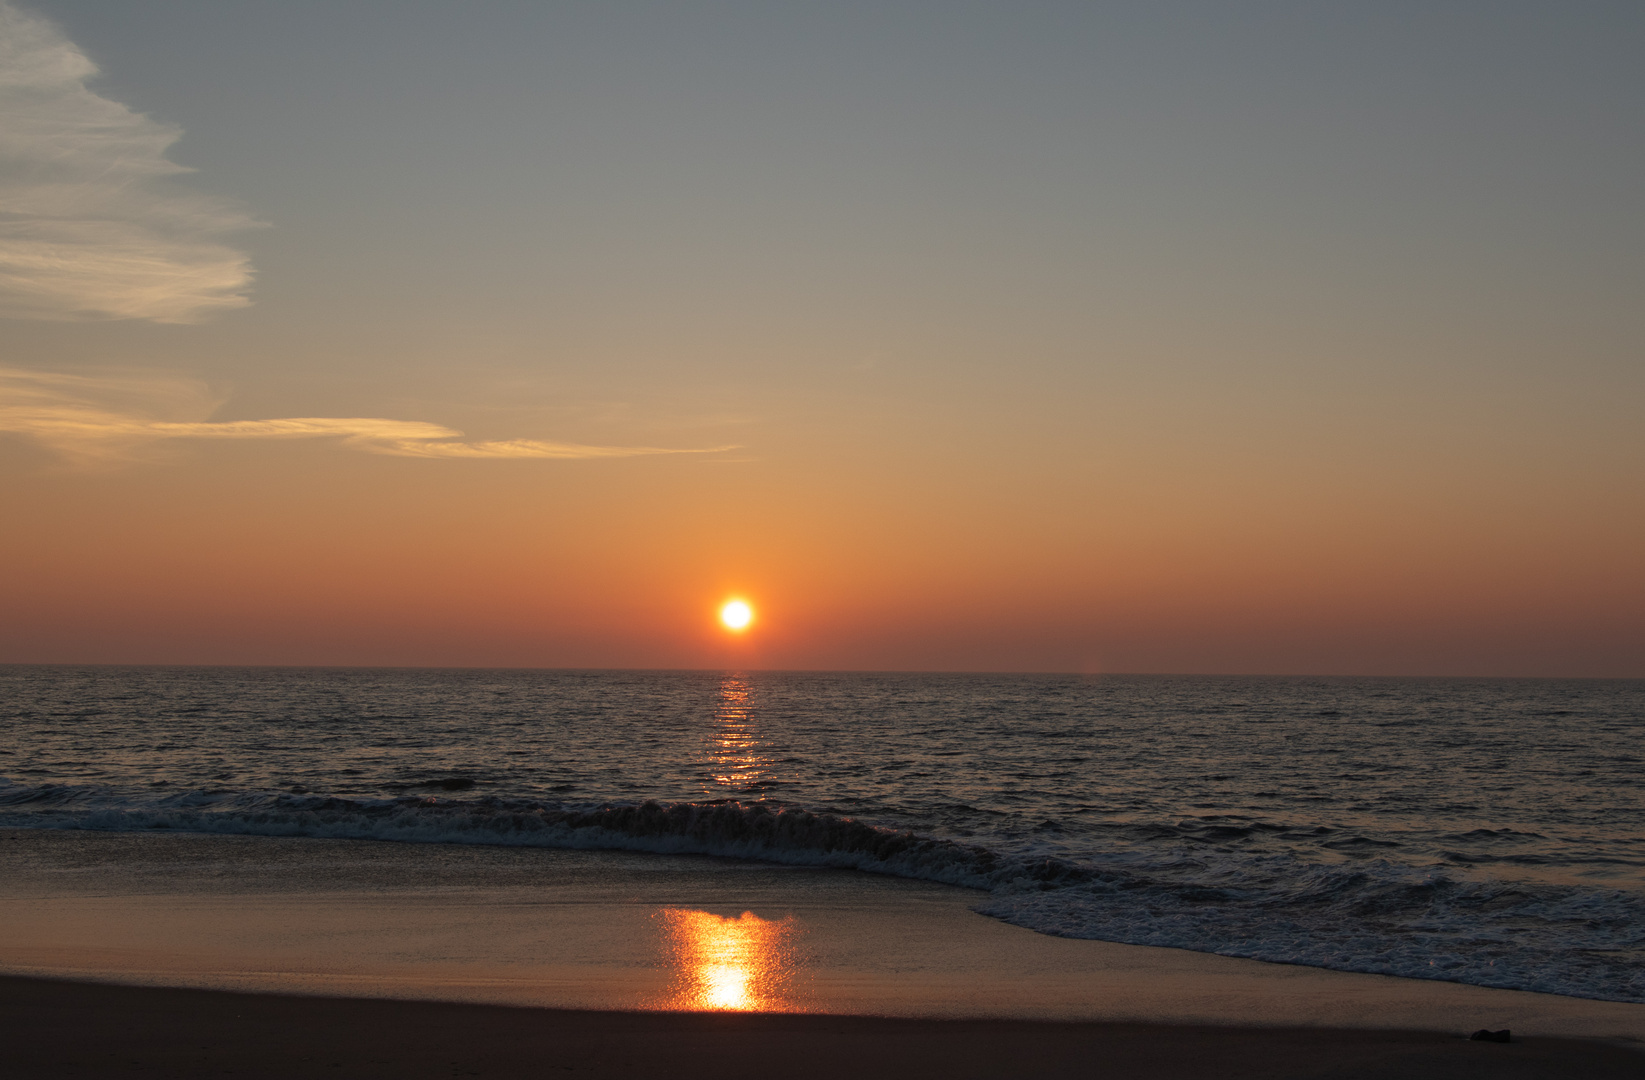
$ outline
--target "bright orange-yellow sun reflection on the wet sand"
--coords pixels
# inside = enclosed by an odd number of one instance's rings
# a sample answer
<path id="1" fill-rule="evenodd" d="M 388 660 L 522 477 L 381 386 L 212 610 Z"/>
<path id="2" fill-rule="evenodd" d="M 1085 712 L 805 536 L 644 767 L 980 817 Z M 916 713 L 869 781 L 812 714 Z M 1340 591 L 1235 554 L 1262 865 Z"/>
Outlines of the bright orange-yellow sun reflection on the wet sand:
<path id="1" fill-rule="evenodd" d="M 663 1008 L 735 1013 L 796 1013 L 795 917 L 730 919 L 709 911 L 663 907 L 674 981 Z"/>

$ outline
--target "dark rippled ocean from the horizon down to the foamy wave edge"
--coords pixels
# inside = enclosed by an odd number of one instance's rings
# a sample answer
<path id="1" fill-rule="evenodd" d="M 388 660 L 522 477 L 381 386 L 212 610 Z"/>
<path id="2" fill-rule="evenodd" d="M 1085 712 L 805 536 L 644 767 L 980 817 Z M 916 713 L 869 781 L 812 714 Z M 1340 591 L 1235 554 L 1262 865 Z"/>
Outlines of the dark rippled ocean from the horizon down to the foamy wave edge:
<path id="1" fill-rule="evenodd" d="M 620 848 L 1645 1003 L 1645 682 L 0 667 L 0 825 Z"/>

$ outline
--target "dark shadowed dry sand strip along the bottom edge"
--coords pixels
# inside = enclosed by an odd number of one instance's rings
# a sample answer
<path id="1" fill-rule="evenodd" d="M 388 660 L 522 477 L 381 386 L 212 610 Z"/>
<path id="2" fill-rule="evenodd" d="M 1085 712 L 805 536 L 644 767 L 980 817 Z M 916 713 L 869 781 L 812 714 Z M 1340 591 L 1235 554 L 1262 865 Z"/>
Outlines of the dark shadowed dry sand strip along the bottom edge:
<path id="1" fill-rule="evenodd" d="M 1645 1077 L 1633 1049 L 1466 1032 L 579 1013 L 0 976 L 23 1077 Z"/>

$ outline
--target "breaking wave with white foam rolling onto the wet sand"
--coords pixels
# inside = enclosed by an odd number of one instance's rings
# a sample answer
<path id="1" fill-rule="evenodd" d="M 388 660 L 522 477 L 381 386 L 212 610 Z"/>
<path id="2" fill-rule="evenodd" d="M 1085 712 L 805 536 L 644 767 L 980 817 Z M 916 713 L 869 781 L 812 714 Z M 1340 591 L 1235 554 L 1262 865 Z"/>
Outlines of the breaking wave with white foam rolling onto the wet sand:
<path id="1" fill-rule="evenodd" d="M 434 786 L 462 791 L 461 782 Z M 1221 852 L 1074 860 L 770 802 L 130 797 L 3 779 L 0 827 L 607 848 L 836 866 L 985 889 L 975 911 L 1061 937 L 1645 1003 L 1645 898 L 1461 879 L 1439 866 Z"/>

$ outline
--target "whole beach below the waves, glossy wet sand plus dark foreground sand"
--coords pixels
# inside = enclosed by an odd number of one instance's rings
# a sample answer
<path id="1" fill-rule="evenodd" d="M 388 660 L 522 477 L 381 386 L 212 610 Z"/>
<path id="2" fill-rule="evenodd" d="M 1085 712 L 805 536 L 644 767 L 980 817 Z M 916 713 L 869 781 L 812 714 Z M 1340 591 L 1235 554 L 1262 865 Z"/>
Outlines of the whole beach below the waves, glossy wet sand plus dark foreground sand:
<path id="1" fill-rule="evenodd" d="M 1640 1004 L 1054 939 L 980 899 L 697 856 L 0 830 L 3 1072 L 1645 1075 Z"/>

